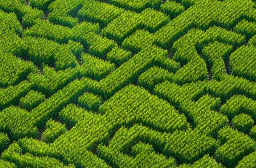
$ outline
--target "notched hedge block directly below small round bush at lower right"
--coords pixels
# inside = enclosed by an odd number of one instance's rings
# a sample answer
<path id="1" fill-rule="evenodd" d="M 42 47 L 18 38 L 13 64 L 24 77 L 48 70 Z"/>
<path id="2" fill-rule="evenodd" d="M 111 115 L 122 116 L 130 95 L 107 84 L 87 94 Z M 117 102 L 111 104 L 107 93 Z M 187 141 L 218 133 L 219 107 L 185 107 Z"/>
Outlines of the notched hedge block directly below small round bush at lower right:
<path id="1" fill-rule="evenodd" d="M 239 160 L 256 150 L 255 141 L 228 126 L 218 132 L 218 137 L 225 144 L 216 150 L 216 160 L 227 167 L 234 167 Z"/>

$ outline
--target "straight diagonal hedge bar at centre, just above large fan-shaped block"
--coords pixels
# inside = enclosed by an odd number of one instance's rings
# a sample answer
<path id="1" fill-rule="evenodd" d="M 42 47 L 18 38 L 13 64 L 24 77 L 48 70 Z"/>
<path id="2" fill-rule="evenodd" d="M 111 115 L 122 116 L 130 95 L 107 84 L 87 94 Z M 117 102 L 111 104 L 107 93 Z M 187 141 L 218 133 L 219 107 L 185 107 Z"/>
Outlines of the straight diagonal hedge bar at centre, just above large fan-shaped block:
<path id="1" fill-rule="evenodd" d="M 104 99 L 111 97 L 127 83 L 134 82 L 143 71 L 152 66 L 153 62 L 159 57 L 166 57 L 168 52 L 161 48 L 152 46 L 145 48 L 138 54 L 134 55 L 128 62 L 122 64 L 113 73 L 102 79 L 97 85 L 99 95 Z"/>

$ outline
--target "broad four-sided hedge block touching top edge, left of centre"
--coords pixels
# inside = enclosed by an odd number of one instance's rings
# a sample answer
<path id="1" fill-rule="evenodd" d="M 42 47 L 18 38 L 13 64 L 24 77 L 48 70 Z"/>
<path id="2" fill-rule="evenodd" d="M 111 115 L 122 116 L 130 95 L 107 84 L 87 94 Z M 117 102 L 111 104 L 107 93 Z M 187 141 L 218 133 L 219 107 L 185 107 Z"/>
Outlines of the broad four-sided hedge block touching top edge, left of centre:
<path id="1" fill-rule="evenodd" d="M 99 1 L 84 1 L 83 8 L 77 13 L 79 20 L 88 20 L 89 22 L 98 22 L 102 27 L 106 26 L 111 20 L 124 12 L 124 9 L 118 8 L 112 4 Z"/>

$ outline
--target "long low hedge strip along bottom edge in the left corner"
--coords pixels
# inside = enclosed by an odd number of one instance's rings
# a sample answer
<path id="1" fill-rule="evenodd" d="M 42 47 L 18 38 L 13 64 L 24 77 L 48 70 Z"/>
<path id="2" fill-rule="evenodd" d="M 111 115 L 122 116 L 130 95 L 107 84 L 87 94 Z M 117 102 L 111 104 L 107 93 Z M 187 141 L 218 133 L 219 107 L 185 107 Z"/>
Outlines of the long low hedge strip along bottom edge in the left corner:
<path id="1" fill-rule="evenodd" d="M 22 149 L 19 144 L 13 143 L 8 150 L 4 151 L 2 154 L 4 160 L 13 162 L 18 167 L 60 167 L 60 168 L 74 168 L 74 164 L 64 165 L 60 160 L 56 158 L 49 157 L 35 157 L 29 153 L 22 153 Z"/>

